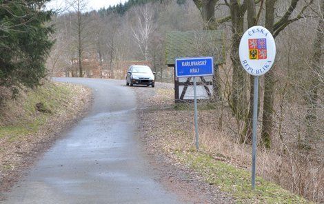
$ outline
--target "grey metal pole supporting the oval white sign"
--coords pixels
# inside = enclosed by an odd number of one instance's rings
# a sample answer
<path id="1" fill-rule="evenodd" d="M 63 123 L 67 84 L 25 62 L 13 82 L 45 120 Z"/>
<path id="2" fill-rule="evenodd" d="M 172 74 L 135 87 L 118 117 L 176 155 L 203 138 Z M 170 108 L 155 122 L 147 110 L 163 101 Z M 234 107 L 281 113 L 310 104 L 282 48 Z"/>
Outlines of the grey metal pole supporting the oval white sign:
<path id="1" fill-rule="evenodd" d="M 255 168 L 256 168 L 256 129 L 258 126 L 258 97 L 259 97 L 259 76 L 254 76 L 253 94 L 253 129 L 252 129 L 252 190 L 255 189 Z"/>

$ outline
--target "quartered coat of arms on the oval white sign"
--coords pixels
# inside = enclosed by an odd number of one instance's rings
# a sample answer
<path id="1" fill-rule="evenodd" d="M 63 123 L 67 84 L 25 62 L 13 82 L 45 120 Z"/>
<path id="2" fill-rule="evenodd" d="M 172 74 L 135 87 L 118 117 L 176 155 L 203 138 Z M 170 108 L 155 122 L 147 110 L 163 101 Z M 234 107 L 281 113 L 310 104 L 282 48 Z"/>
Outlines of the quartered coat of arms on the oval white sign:
<path id="1" fill-rule="evenodd" d="M 267 59 L 267 39 L 249 39 L 249 59 Z"/>

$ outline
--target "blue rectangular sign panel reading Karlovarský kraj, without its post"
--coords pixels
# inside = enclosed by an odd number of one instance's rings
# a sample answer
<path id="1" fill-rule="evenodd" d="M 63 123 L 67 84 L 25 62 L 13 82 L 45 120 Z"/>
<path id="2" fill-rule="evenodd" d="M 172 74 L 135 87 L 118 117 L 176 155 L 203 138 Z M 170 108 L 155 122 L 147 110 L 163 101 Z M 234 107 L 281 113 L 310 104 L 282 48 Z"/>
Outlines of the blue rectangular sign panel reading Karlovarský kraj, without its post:
<path id="1" fill-rule="evenodd" d="M 199 65 L 199 69 L 203 69 L 202 72 L 190 73 L 190 68 L 197 68 L 197 65 L 186 65 L 185 68 L 181 65 L 181 62 L 191 61 L 203 61 L 206 60 L 206 65 Z M 179 64 L 178 64 L 179 63 Z M 176 77 L 190 77 L 190 76 L 213 76 L 214 75 L 214 59 L 213 57 L 185 57 L 175 60 L 174 63 Z M 182 73 L 179 73 L 181 72 Z"/>

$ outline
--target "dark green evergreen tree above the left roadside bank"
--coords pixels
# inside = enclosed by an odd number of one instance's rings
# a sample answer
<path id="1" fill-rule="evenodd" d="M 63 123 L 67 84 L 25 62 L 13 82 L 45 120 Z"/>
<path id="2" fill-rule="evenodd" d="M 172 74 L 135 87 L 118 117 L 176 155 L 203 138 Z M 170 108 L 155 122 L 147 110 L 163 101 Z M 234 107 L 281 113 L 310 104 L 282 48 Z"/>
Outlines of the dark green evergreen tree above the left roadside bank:
<path id="1" fill-rule="evenodd" d="M 16 91 L 19 85 L 34 87 L 45 76 L 45 59 L 53 41 L 49 39 L 52 11 L 43 10 L 48 0 L 1 0 L 0 85 Z"/>

